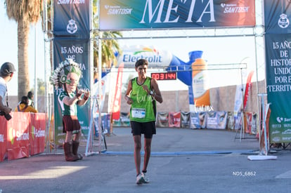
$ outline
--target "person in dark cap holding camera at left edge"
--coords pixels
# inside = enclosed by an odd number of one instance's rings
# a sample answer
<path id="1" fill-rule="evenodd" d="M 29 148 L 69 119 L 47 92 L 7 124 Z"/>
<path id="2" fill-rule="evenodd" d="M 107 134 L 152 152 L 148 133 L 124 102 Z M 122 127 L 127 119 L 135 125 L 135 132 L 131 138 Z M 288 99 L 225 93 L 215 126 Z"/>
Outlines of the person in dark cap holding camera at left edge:
<path id="1" fill-rule="evenodd" d="M 11 119 L 10 112 L 11 108 L 8 107 L 8 93 L 7 93 L 7 83 L 13 77 L 13 72 L 15 72 L 14 65 L 11 62 L 5 62 L 1 65 L 0 69 L 0 115 L 4 116 L 7 120 Z"/>

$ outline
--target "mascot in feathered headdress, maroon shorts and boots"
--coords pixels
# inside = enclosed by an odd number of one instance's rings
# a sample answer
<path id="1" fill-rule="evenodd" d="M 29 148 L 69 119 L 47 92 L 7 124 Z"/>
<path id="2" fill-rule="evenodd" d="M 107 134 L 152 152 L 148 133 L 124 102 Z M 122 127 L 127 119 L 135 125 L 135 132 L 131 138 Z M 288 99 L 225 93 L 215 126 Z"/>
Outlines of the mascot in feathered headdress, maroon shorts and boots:
<path id="1" fill-rule="evenodd" d="M 82 154 L 78 154 L 81 126 L 77 118 L 77 105 L 86 104 L 90 92 L 77 89 L 81 74 L 79 65 L 67 59 L 60 63 L 51 76 L 51 84 L 64 89 L 58 96 L 58 101 L 63 112 L 63 132 L 66 133 L 63 144 L 66 161 L 83 158 Z"/>

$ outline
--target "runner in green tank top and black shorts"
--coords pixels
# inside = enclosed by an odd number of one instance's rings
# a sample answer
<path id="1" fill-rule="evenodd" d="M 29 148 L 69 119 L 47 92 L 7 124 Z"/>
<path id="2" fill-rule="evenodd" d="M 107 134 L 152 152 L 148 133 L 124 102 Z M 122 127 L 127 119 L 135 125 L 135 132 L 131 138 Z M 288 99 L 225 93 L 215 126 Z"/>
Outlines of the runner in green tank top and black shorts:
<path id="1" fill-rule="evenodd" d="M 135 64 L 138 77 L 131 79 L 127 86 L 125 100 L 131 105 L 130 124 L 134 136 L 134 161 L 136 164 L 136 184 L 148 183 L 145 175 L 150 160 L 150 147 L 155 129 L 156 101 L 162 103 L 162 95 L 156 79 L 146 76 L 148 61 L 140 59 Z M 144 160 L 141 172 L 141 134 L 144 134 Z"/>

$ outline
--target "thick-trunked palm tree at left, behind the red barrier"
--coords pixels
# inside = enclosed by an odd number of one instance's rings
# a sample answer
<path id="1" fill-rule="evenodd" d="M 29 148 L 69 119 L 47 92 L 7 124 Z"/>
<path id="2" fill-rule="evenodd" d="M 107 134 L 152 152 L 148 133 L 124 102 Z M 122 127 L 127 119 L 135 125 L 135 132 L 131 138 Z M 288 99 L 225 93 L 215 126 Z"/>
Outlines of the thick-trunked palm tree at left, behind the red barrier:
<path id="1" fill-rule="evenodd" d="M 18 100 L 30 91 L 30 73 L 28 64 L 28 37 L 30 24 L 41 17 L 43 0 L 5 0 L 9 19 L 18 25 Z"/>

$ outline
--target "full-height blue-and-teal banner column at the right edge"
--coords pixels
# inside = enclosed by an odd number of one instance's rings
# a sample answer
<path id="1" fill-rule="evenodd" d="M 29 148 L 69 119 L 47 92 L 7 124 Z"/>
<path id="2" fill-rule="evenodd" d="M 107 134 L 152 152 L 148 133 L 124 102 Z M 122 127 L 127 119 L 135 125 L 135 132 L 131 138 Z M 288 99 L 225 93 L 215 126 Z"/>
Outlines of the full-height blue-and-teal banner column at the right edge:
<path id="1" fill-rule="evenodd" d="M 291 3 L 265 0 L 266 91 L 271 143 L 291 142 Z"/>

